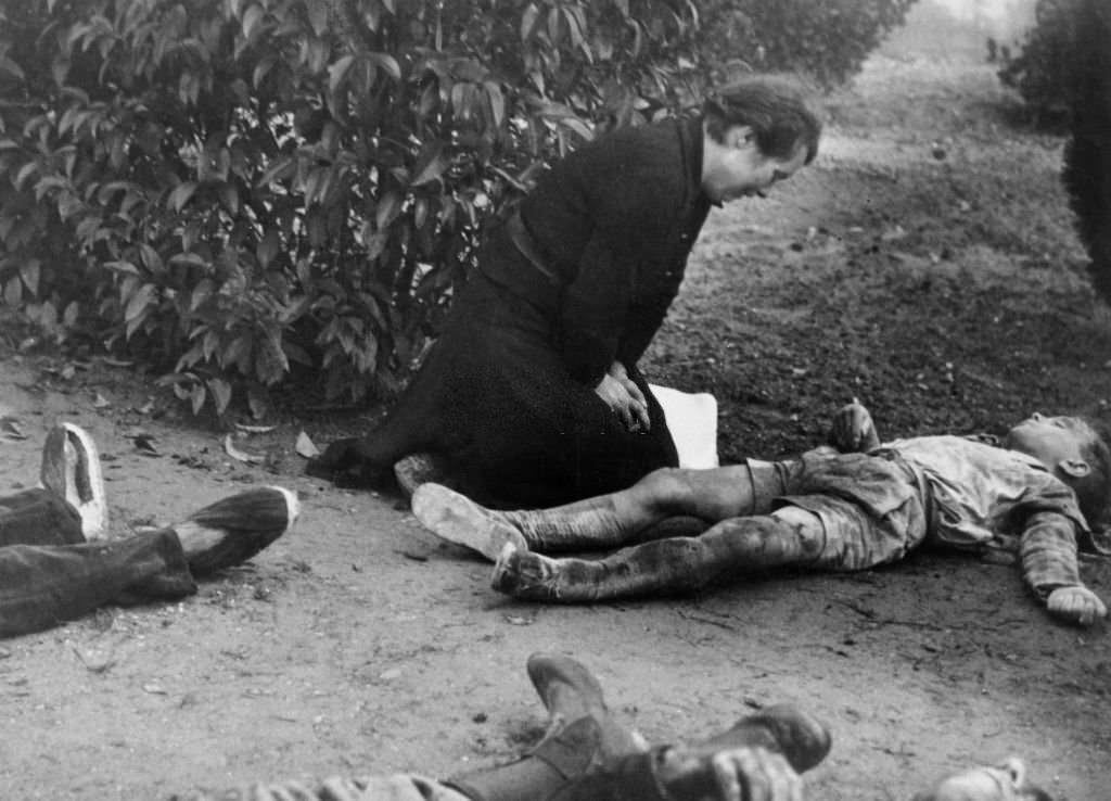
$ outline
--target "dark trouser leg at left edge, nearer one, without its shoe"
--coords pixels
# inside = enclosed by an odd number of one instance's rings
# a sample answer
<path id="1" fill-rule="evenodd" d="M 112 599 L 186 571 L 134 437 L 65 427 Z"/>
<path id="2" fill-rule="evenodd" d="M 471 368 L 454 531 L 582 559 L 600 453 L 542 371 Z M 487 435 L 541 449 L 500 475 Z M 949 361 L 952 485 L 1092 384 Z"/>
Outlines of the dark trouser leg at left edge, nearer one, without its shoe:
<path id="1" fill-rule="evenodd" d="M 118 598 L 197 589 L 170 529 L 113 542 L 0 548 L 0 637 L 49 629 Z"/>

